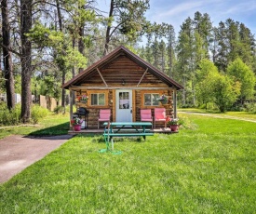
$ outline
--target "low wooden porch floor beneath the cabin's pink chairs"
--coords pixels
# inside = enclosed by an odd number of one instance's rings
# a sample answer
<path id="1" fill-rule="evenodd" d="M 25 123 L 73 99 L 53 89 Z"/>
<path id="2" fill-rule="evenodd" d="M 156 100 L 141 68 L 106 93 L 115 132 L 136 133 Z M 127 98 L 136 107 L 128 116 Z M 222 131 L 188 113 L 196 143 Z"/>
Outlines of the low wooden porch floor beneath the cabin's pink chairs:
<path id="1" fill-rule="evenodd" d="M 70 135 L 77 135 L 77 134 L 103 134 L 104 128 L 88 128 L 88 129 L 83 129 L 81 128 L 80 131 L 74 131 L 74 130 L 69 130 L 68 134 Z M 169 127 L 158 127 L 154 129 L 150 129 L 150 132 L 153 133 L 163 133 L 163 134 L 173 134 L 173 133 L 178 133 L 179 131 L 171 131 Z"/>

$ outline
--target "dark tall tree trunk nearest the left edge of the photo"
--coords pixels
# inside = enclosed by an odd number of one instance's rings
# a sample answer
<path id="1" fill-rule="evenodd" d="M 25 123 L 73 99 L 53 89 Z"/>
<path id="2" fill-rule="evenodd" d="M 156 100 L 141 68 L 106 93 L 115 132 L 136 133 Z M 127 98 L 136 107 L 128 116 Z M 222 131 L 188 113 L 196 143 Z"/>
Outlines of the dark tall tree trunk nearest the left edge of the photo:
<path id="1" fill-rule="evenodd" d="M 2 33 L 3 33 L 3 61 L 4 61 L 4 77 L 6 79 L 7 89 L 7 108 L 10 110 L 15 107 L 15 89 L 14 76 L 10 48 L 9 18 L 7 0 L 2 0 Z"/>

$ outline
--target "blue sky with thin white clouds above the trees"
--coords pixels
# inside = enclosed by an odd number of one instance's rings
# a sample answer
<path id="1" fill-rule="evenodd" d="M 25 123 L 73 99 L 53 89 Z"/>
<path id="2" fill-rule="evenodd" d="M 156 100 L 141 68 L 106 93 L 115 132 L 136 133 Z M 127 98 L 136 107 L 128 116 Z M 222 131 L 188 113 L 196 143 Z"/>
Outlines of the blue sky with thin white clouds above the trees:
<path id="1" fill-rule="evenodd" d="M 108 12 L 110 0 L 97 0 L 99 7 Z M 232 19 L 244 23 L 256 36 L 255 0 L 150 0 L 147 20 L 166 22 L 174 27 L 175 33 L 188 17 L 194 19 L 195 12 L 208 13 L 212 25 L 218 27 L 220 21 Z"/>

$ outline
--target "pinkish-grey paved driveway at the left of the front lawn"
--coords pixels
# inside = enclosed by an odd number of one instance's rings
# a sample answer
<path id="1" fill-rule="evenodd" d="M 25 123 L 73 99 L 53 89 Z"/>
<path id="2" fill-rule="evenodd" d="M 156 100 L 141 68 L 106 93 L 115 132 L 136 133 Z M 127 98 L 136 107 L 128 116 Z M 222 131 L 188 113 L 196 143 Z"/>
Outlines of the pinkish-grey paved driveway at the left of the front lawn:
<path id="1" fill-rule="evenodd" d="M 0 183 L 61 146 L 72 135 L 31 137 L 12 135 L 0 140 Z"/>

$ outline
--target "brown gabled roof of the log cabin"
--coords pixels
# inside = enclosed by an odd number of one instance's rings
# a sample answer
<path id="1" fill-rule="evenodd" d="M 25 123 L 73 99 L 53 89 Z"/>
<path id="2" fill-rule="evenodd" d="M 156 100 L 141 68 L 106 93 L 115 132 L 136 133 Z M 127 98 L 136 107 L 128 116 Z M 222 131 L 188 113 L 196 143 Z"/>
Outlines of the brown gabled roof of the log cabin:
<path id="1" fill-rule="evenodd" d="M 130 50 L 128 50 L 128 48 L 123 47 L 123 46 L 115 48 L 114 51 L 112 51 L 108 55 L 101 58 L 101 60 L 98 60 L 97 62 L 95 62 L 94 64 L 89 66 L 82 73 L 74 76 L 73 79 L 71 79 L 70 81 L 63 84 L 62 88 L 68 89 L 69 87 L 79 86 L 80 84 L 83 83 L 85 78 L 88 78 L 88 77 L 91 77 L 92 75 L 94 75 L 97 72 L 97 69 L 101 70 L 101 67 L 103 67 L 110 61 L 115 60 L 115 58 L 117 58 L 118 56 L 123 55 L 123 54 L 126 54 L 129 59 L 135 61 L 137 64 L 139 64 L 145 70 L 148 69 L 148 73 L 155 75 L 155 77 L 160 79 L 162 82 L 167 84 L 169 87 L 175 87 L 177 90 L 183 88 L 180 84 L 178 84 L 173 79 L 168 77 L 167 74 L 162 73 L 161 71 L 156 69 L 153 65 L 146 62 L 145 60 L 142 60 L 139 56 L 132 53 Z"/>

